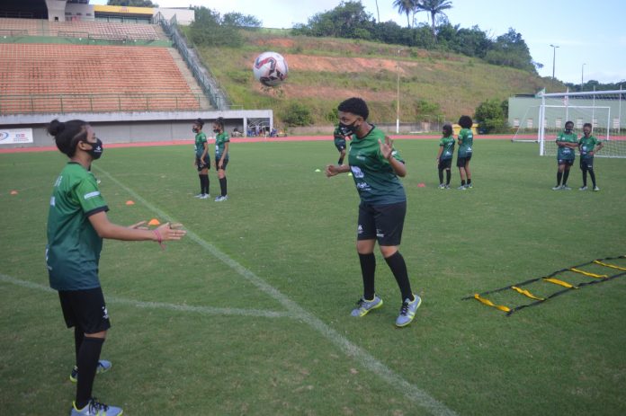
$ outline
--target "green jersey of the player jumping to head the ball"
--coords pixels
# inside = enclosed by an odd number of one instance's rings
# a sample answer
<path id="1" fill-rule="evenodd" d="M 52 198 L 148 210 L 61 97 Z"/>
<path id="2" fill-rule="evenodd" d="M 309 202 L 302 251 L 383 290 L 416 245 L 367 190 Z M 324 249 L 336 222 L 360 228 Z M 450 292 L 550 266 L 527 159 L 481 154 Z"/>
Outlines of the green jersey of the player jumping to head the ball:
<path id="1" fill-rule="evenodd" d="M 403 202 L 407 200 L 404 187 L 389 161 L 380 153 L 379 140 L 384 142 L 385 133 L 374 127 L 367 136 L 359 138 L 354 135 L 350 142 L 348 163 L 356 190 L 362 202 L 371 205 Z M 396 149 L 392 157 L 404 163 Z"/>

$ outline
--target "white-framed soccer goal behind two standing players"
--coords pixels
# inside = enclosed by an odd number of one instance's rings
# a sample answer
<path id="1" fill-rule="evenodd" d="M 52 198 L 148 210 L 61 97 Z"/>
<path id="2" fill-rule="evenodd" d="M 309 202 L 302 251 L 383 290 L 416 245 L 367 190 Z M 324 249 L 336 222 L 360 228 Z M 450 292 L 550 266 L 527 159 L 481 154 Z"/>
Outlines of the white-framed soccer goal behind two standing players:
<path id="1" fill-rule="evenodd" d="M 541 94 L 537 137 L 539 154 L 557 155 L 556 138 L 565 128 L 565 123 L 572 121 L 578 137 L 583 135 L 583 125 L 591 123 L 592 135 L 604 142 L 604 148 L 596 157 L 626 158 L 624 98 L 624 90 Z"/>

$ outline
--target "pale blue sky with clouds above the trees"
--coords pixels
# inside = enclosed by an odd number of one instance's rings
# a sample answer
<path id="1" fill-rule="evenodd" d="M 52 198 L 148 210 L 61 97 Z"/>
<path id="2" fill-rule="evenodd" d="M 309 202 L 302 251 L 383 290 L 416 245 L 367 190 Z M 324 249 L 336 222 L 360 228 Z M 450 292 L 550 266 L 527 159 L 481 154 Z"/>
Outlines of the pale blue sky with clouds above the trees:
<path id="1" fill-rule="evenodd" d="M 203 5 L 219 13 L 252 14 L 264 27 L 290 28 L 307 23 L 317 13 L 334 9 L 340 0 L 153 0 L 161 7 Z M 378 19 L 376 0 L 362 0 L 368 13 Z M 91 4 L 106 4 L 92 0 Z M 407 25 L 407 16 L 398 14 L 393 0 L 378 0 L 380 21 Z M 561 81 L 579 84 L 595 79 L 603 83 L 626 80 L 625 0 L 452 0 L 446 11 L 449 21 L 461 28 L 478 25 L 492 37 L 514 28 L 522 34 L 532 59 L 543 64 L 540 75 L 554 72 Z M 426 22 L 427 14 L 416 15 Z M 553 49 L 550 44 L 558 46 Z M 626 84 L 624 84 L 626 89 Z"/>

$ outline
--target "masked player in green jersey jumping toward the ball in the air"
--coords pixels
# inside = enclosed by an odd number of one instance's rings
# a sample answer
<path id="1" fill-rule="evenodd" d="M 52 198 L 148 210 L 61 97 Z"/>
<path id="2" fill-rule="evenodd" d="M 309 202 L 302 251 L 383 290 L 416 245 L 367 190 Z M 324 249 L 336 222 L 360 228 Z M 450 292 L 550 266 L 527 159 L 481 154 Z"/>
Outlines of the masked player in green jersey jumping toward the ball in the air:
<path id="1" fill-rule="evenodd" d="M 352 136 L 348 165 L 329 164 L 326 176 L 352 172 L 361 198 L 356 251 L 361 262 L 363 296 L 357 301 L 352 316 L 364 316 L 382 306 L 382 299 L 374 288 L 374 246 L 378 241 L 380 252 L 400 288 L 402 304 L 396 325 L 407 326 L 422 303 L 422 299 L 413 294 L 407 264 L 398 251 L 407 213 L 407 195 L 398 176 L 404 177 L 407 169 L 389 137 L 367 122 L 370 111 L 361 98 L 349 98 L 339 104 L 337 110 L 341 133 Z"/>

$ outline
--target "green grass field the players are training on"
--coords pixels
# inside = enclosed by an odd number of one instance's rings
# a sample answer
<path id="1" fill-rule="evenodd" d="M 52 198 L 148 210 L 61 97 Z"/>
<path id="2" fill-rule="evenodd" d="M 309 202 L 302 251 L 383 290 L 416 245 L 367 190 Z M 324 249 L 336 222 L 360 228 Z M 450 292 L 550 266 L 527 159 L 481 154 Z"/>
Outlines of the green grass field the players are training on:
<path id="1" fill-rule="evenodd" d="M 112 221 L 173 219 L 189 234 L 165 251 L 104 244 L 113 367 L 94 394 L 130 415 L 625 414 L 626 277 L 510 317 L 461 297 L 626 254 L 626 161 L 596 160 L 600 192 L 576 190 L 577 164 L 575 190 L 552 191 L 555 160 L 536 145 L 478 140 L 474 189 L 437 190 L 436 141 L 396 146 L 409 172 L 401 252 L 424 299 L 402 330 L 379 252 L 385 305 L 349 316 L 362 291 L 358 197 L 347 175 L 315 172 L 336 161 L 332 141 L 233 144 L 224 203 L 192 198 L 191 146 L 107 149 L 94 173 Z M 73 332 L 44 264 L 63 164 L 58 152 L 0 155 L 2 414 L 67 414 L 74 397 Z"/>

